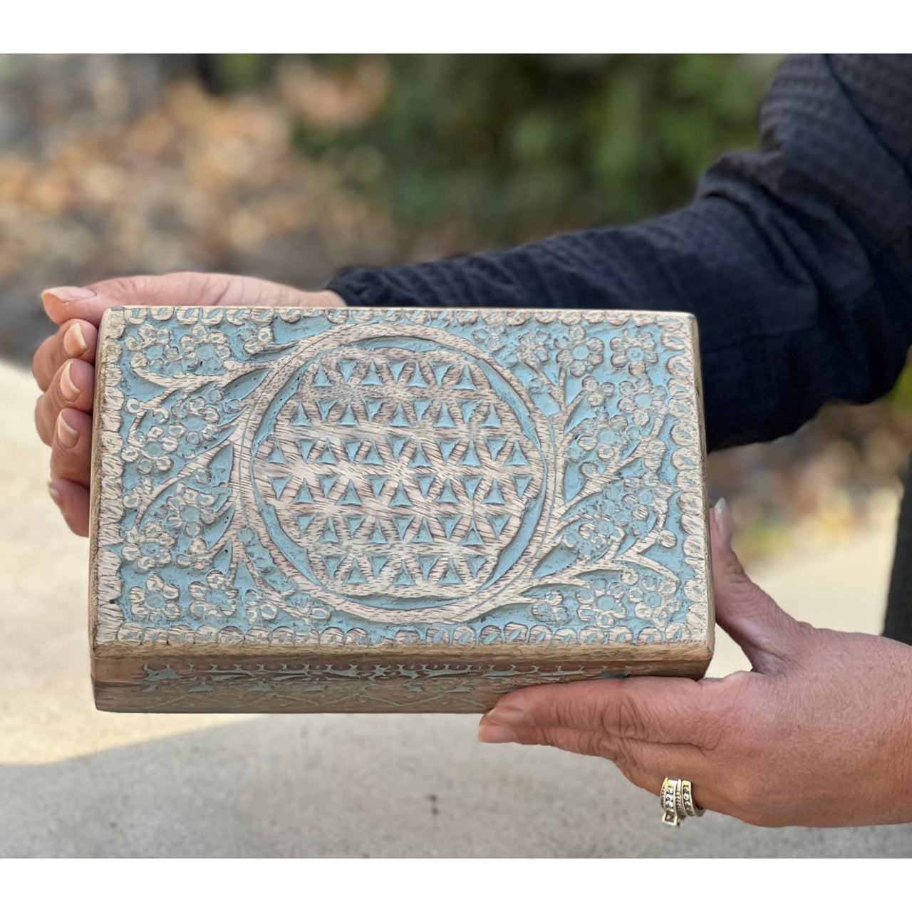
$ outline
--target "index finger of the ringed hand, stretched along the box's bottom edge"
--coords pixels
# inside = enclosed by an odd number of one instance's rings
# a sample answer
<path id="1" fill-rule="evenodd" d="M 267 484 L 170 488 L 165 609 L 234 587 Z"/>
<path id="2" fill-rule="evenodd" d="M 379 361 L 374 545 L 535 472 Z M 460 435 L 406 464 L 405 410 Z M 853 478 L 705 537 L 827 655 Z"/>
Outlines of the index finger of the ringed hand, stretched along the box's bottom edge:
<path id="1" fill-rule="evenodd" d="M 622 740 L 710 748 L 728 702 L 718 687 L 685 678 L 575 681 L 515 690 L 484 720 L 507 729 L 598 731 Z"/>

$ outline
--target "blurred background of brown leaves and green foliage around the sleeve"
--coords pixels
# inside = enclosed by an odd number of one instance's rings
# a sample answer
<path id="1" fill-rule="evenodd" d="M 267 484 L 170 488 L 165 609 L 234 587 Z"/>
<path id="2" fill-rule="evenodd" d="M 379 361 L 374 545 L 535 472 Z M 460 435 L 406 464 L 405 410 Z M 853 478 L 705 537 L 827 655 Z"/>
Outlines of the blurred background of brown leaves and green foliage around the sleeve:
<path id="1" fill-rule="evenodd" d="M 648 218 L 757 141 L 770 56 L 0 56 L 0 358 L 38 292 L 340 267 Z M 912 375 L 789 438 L 714 454 L 748 561 L 896 512 Z"/>

